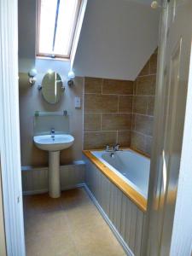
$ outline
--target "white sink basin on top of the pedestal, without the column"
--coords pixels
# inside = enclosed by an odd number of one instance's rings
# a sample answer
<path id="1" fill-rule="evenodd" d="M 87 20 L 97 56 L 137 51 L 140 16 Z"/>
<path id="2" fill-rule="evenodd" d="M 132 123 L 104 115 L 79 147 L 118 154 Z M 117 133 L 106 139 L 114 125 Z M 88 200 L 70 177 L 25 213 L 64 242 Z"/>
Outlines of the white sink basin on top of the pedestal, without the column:
<path id="1" fill-rule="evenodd" d="M 74 138 L 68 134 L 55 134 L 55 137 L 51 137 L 51 135 L 40 135 L 33 137 L 33 141 L 42 150 L 61 151 L 71 147 Z"/>

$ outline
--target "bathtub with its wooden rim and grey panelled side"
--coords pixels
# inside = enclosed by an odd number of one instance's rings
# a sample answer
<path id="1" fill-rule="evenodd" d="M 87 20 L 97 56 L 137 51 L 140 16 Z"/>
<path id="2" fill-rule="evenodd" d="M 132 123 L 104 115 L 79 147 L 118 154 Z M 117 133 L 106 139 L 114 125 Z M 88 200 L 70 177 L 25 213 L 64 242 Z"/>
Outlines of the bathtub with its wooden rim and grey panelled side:
<path id="1" fill-rule="evenodd" d="M 126 255 L 141 256 L 150 159 L 130 148 L 83 153 L 86 191 Z"/>

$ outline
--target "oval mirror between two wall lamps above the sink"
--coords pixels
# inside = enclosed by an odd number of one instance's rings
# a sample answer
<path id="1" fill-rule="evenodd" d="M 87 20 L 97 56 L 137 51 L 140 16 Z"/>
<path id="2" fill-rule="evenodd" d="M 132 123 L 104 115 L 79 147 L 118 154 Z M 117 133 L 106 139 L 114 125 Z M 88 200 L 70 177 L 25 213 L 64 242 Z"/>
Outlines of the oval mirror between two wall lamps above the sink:
<path id="1" fill-rule="evenodd" d="M 60 101 L 61 93 L 61 76 L 56 72 L 46 73 L 42 81 L 42 94 L 44 100 L 50 104 L 55 104 Z"/>

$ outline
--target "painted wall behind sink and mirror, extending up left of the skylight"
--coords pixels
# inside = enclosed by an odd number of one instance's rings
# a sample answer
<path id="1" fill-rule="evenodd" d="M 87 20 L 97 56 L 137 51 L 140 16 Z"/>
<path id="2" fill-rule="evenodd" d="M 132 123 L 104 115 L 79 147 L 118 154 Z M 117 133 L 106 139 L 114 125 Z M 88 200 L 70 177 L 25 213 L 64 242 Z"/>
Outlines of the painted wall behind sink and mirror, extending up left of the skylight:
<path id="1" fill-rule="evenodd" d="M 76 78 L 75 86 L 67 86 L 67 73 L 70 71 L 70 61 L 36 59 L 36 2 L 37 0 L 19 0 L 19 64 L 20 64 L 20 148 L 22 166 L 47 166 L 48 154 L 38 150 L 32 142 L 33 116 L 38 111 L 63 111 L 67 109 L 70 115 L 70 132 L 75 137 L 72 148 L 61 153 L 61 164 L 80 160 L 82 158 L 83 142 L 83 108 L 74 108 L 74 97 L 83 101 L 84 79 Z M 38 71 L 37 82 L 32 87 L 28 83 L 27 73 L 32 67 Z M 44 102 L 38 84 L 42 83 L 44 74 L 52 69 L 61 75 L 66 90 L 58 104 Z"/>

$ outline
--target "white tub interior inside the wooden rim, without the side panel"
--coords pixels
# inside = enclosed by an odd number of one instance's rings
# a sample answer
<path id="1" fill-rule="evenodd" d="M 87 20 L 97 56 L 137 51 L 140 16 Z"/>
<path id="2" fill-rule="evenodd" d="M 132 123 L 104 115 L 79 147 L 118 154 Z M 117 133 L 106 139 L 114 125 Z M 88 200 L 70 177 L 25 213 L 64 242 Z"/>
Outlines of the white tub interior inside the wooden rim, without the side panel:
<path id="1" fill-rule="evenodd" d="M 150 168 L 150 160 L 147 157 L 131 149 L 113 154 L 106 151 L 91 151 L 91 154 L 147 199 Z"/>

